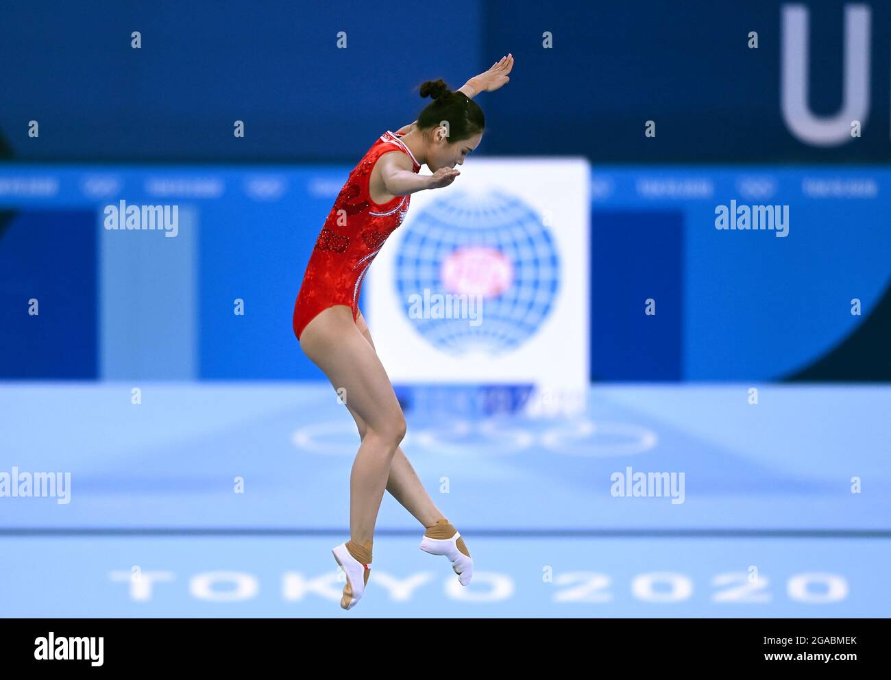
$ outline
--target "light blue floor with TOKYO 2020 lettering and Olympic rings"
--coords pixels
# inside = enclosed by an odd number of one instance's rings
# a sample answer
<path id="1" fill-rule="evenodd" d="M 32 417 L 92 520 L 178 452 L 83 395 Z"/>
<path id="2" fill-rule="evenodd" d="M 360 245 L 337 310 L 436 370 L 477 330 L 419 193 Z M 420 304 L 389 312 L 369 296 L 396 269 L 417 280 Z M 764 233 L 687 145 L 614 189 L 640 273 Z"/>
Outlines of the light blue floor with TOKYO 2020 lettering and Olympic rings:
<path id="1" fill-rule="evenodd" d="M 71 474 L 68 504 L 0 498 L 0 615 L 891 615 L 891 538 L 845 534 L 891 530 L 891 389 L 597 387 L 572 420 L 409 411 L 403 449 L 478 573 L 458 585 L 387 496 L 369 590 L 343 612 L 330 548 L 358 437 L 331 387 L 144 384 L 135 406 L 134 386 L 0 385 L 0 473 Z M 611 495 L 629 466 L 683 473 L 683 503 Z M 136 533 L 29 533 L 85 528 Z"/>

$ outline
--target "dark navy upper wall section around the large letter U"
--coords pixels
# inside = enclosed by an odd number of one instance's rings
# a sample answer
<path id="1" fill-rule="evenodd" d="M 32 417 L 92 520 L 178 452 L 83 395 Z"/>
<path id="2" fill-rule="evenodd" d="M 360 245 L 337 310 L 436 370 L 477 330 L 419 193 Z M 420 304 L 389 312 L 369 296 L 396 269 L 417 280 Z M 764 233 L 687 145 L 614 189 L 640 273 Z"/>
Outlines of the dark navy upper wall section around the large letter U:
<path id="1" fill-rule="evenodd" d="M 479 153 L 632 163 L 891 158 L 891 4 L 861 3 L 871 10 L 871 106 L 862 138 L 835 148 L 799 142 L 782 121 L 783 4 L 5 4 L 0 158 L 348 163 L 380 129 L 415 119 L 429 100 L 413 87 L 436 77 L 459 87 L 508 52 L 511 85 L 480 95 L 488 130 Z M 830 115 L 842 101 L 851 3 L 803 4 L 810 105 Z M 749 31 L 758 49 L 748 49 Z M 650 119 L 655 139 L 642 134 Z M 233 137 L 235 120 L 245 122 L 243 139 Z"/>

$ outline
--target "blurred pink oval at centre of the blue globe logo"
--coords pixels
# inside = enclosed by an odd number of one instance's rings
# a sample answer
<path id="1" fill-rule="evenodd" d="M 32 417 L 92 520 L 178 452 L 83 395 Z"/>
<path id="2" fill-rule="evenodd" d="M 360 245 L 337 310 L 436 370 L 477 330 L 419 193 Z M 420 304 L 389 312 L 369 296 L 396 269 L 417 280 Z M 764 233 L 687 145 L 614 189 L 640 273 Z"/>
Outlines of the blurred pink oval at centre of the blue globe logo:
<path id="1" fill-rule="evenodd" d="M 443 260 L 440 278 L 446 290 L 459 295 L 501 295 L 513 283 L 513 265 L 493 247 L 462 247 Z"/>

